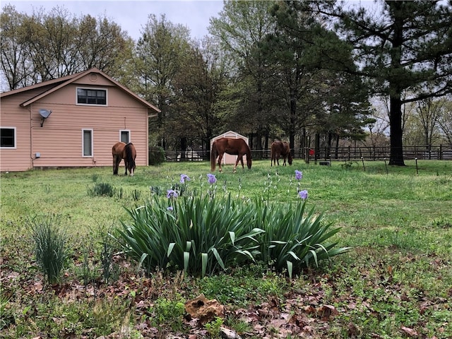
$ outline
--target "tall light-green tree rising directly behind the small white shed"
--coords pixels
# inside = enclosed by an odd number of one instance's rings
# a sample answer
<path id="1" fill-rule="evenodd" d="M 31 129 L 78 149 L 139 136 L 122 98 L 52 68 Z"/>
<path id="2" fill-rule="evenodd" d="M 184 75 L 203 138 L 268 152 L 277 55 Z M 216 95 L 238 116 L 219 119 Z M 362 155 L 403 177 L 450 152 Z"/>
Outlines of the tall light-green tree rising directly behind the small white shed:
<path id="1" fill-rule="evenodd" d="M 275 1 L 225 1 L 219 18 L 210 20 L 209 32 L 220 39 L 220 44 L 232 59 L 232 76 L 237 91 L 231 90 L 231 99 L 238 100 L 235 112 L 230 112 L 234 130 L 241 133 L 256 131 L 257 145 L 262 148 L 260 136 L 270 130 L 268 65 L 261 44 L 273 31 L 275 20 L 270 7 Z M 237 124 L 240 121 L 240 124 Z"/>

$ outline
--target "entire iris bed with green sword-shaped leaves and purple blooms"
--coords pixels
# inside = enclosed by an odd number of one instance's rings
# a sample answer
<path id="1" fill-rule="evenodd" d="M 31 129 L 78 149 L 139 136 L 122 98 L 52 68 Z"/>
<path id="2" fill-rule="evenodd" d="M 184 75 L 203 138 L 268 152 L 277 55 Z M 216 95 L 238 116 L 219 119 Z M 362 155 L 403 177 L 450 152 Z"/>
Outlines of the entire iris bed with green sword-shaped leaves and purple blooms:
<path id="1" fill-rule="evenodd" d="M 131 222 L 122 222 L 119 240 L 148 273 L 168 269 L 210 275 L 260 261 L 292 278 L 302 268 L 349 250 L 330 242 L 338 228 L 314 208 L 307 210 L 302 178 L 295 170 L 299 200 L 280 205 L 262 198 L 215 196 L 217 178 L 207 174 L 206 192 L 168 189 L 166 199 L 153 195 L 143 206 L 128 209 Z M 181 184 L 188 181 L 180 175 Z"/>

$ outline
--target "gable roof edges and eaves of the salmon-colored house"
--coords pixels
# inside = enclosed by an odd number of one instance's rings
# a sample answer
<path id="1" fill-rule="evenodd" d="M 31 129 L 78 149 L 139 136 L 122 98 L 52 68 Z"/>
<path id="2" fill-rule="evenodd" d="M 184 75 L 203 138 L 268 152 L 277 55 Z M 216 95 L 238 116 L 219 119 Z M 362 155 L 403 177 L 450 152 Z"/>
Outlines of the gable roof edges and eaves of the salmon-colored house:
<path id="1" fill-rule="evenodd" d="M 59 90 L 60 88 L 63 88 L 64 86 L 69 85 L 70 83 L 73 83 L 74 81 L 77 81 L 78 79 L 83 78 L 83 76 L 86 76 L 86 75 L 88 75 L 90 73 L 98 73 L 98 74 L 100 74 L 101 76 L 107 78 L 109 81 L 112 81 L 112 83 L 114 83 L 114 85 L 117 85 L 117 87 L 121 88 L 121 90 L 123 90 L 125 93 L 131 95 L 131 97 L 134 97 L 136 100 L 138 100 L 143 105 L 148 107 L 148 109 L 153 109 L 153 111 L 155 111 L 157 113 L 160 112 L 160 109 L 158 109 L 154 105 L 150 104 L 146 100 L 142 99 L 141 97 L 139 97 L 138 95 L 133 93 L 131 90 L 129 90 L 129 88 L 126 88 L 124 85 L 121 85 L 121 83 L 115 81 L 113 78 L 110 78 L 109 76 L 107 76 L 107 74 L 103 73 L 102 71 L 100 71 L 100 69 L 97 69 L 95 67 L 93 69 L 88 69 L 88 71 L 83 71 L 83 72 L 80 72 L 80 73 L 71 74 L 70 76 L 64 76 L 62 78 L 52 79 L 52 80 L 49 80 L 49 81 L 44 81 L 42 83 L 37 83 L 35 85 L 31 85 L 31 86 L 27 86 L 27 87 L 23 87 L 23 88 L 18 88 L 17 90 L 10 90 L 8 92 L 0 93 L 0 97 L 6 97 L 8 95 L 13 95 L 13 94 L 16 94 L 16 93 L 25 92 L 27 90 L 32 90 L 32 89 L 35 89 L 35 88 L 44 88 L 44 87 L 47 87 L 49 85 L 54 85 L 52 88 L 44 90 L 44 92 L 42 92 L 42 93 L 40 93 L 38 95 L 35 95 L 35 97 L 32 97 L 32 98 L 30 98 L 30 99 L 28 99 L 25 102 L 22 102 L 20 104 L 20 106 L 26 107 L 26 106 L 32 104 L 33 102 L 35 102 L 37 100 L 40 100 L 42 97 L 45 97 L 46 95 L 49 95 L 50 93 L 54 93 L 55 91 Z"/>

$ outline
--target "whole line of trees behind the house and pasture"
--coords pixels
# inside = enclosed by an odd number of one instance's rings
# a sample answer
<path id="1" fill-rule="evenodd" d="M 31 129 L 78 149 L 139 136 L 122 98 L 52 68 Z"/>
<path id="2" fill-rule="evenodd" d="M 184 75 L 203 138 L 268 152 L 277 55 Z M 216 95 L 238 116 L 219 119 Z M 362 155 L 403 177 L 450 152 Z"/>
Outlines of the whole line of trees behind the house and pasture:
<path id="1" fill-rule="evenodd" d="M 230 129 L 257 150 L 273 138 L 291 148 L 362 140 L 379 120 L 377 95 L 388 98 L 390 162 L 403 165 L 402 109 L 452 88 L 451 4 L 437 2 L 386 1 L 374 13 L 226 1 L 203 40 L 150 13 L 137 41 L 107 18 L 5 6 L 1 80 L 12 90 L 97 67 L 161 110 L 150 145 L 167 150 L 208 149 Z"/>

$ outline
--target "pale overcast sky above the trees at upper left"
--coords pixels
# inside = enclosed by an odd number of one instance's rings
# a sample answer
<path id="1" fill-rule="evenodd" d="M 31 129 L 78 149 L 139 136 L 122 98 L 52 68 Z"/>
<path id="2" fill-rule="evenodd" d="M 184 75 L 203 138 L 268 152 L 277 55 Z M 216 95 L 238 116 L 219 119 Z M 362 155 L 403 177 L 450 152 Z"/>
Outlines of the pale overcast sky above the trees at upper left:
<path id="1" fill-rule="evenodd" d="M 97 1 L 26 1 L 2 0 L 1 7 L 11 4 L 20 13 L 31 14 L 33 9 L 52 8 L 62 6 L 76 17 L 87 14 L 90 16 L 105 16 L 114 21 L 122 30 L 138 40 L 141 30 L 148 22 L 148 15 L 155 14 L 160 19 L 165 14 L 168 21 L 174 24 L 186 25 L 191 31 L 191 37 L 201 39 L 207 35 L 209 18 L 217 17 L 222 10 L 222 0 L 97 0 Z"/>

